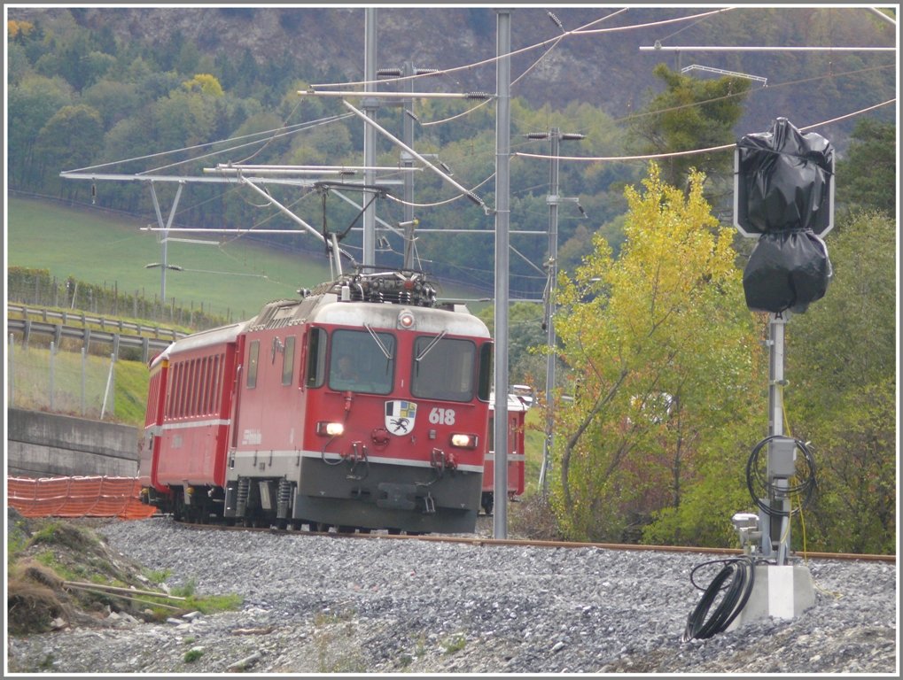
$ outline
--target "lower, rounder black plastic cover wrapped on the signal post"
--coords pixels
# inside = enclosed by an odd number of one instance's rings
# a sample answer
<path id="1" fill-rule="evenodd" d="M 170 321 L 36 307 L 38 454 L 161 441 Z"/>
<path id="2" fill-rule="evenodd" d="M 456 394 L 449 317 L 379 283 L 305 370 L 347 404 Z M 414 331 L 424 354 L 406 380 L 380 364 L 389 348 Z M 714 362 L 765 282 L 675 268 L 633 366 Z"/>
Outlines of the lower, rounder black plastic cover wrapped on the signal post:
<path id="1" fill-rule="evenodd" d="M 831 275 L 828 249 L 811 229 L 762 234 L 743 271 L 746 305 L 802 314 L 824 297 Z"/>

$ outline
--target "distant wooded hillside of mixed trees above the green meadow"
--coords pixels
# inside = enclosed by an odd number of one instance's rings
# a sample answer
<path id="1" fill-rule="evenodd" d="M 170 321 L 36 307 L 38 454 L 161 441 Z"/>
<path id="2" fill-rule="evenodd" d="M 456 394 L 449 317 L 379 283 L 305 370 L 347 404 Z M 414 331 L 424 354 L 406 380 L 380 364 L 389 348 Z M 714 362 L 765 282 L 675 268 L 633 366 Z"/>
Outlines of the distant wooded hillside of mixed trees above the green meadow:
<path id="1" fill-rule="evenodd" d="M 286 75 L 303 71 L 312 78 L 328 79 L 333 74 L 304 69 L 298 64 L 292 68 L 273 62 L 262 66 L 247 52 L 202 54 L 179 32 L 174 32 L 171 43 L 160 49 L 156 45 L 118 41 L 103 29 L 89 30 L 75 23 L 65 32 L 52 33 L 45 32 L 41 23 L 11 22 L 7 28 L 7 169 L 10 188 L 15 190 L 153 216 L 154 206 L 146 186 L 116 181 L 92 184 L 61 179 L 60 173 L 92 168 L 98 173 L 155 170 L 160 174 L 197 177 L 204 168 L 230 161 L 361 164 L 363 131 L 359 121 L 335 100 L 298 96 L 297 91 L 305 84 Z M 427 100 L 419 105 L 417 113 L 424 120 L 438 120 L 472 106 L 471 102 L 457 100 Z M 592 131 L 580 142 L 582 153 L 623 148 L 618 126 L 594 106 L 574 104 L 563 111 L 547 106 L 532 110 L 523 100 L 516 99 L 512 108 L 513 118 L 524 133 L 567 124 Z M 401 118 L 396 108 L 380 111 L 377 122 L 400 136 Z M 473 184 L 479 181 L 475 193 L 490 206 L 494 203 L 494 124 L 493 108 L 483 106 L 467 116 L 466 124 L 424 127 L 417 131 L 416 140 L 418 152 L 439 153 L 439 160 L 452 169 L 456 179 L 469 178 L 463 181 Z M 518 132 L 513 133 L 513 138 L 517 148 L 547 152 L 545 144 L 520 139 Z M 221 142 L 228 139 L 240 141 Z M 182 149 L 188 151 L 164 153 Z M 223 152 L 225 149 L 229 151 Z M 137 160 L 129 161 L 132 159 Z M 397 150 L 382 152 L 378 162 L 397 165 Z M 621 188 L 636 179 L 639 170 L 611 166 L 589 170 L 562 168 L 562 188 L 574 196 L 579 193 L 582 207 L 592 217 L 588 228 L 584 225 L 586 218 L 576 207 L 565 206 L 560 211 L 560 244 L 569 262 L 579 262 L 591 231 L 601 228 L 610 232 L 613 243 L 619 239 L 619 228 L 609 223 L 623 212 Z M 511 289 L 515 298 L 537 299 L 545 289 L 541 266 L 546 239 L 542 235 L 518 235 L 517 231 L 545 231 L 548 171 L 544 161 L 512 162 L 515 189 L 511 201 L 516 215 L 511 227 L 512 245 L 524 256 L 512 262 Z M 433 173 L 416 173 L 414 182 L 417 203 L 448 204 L 424 208 L 424 214 L 417 215 L 422 228 L 483 232 L 472 237 L 430 234 L 418 239 L 417 255 L 424 270 L 444 280 L 491 290 L 494 217 L 466 198 L 450 202 L 455 192 L 450 192 Z M 355 222 L 358 210 L 341 200 L 329 198 L 324 214 L 320 191 L 299 192 L 298 188 L 272 185 L 269 190 L 312 225 L 319 227 L 325 222 L 330 230 L 340 232 L 352 224 L 359 226 Z M 166 191 L 167 188 L 160 189 L 162 200 L 172 196 L 172 190 L 164 196 Z M 395 193 L 399 193 L 397 188 Z M 400 206 L 386 198 L 378 200 L 382 218 L 390 224 L 403 220 Z M 259 203 L 247 190 L 186 185 L 174 225 L 296 227 L 275 208 L 261 208 Z M 381 263 L 396 263 L 400 259 L 398 253 L 404 252 L 404 244 L 396 234 L 385 235 L 388 249 L 379 253 L 379 259 Z M 279 236 L 273 240 L 309 251 L 320 247 L 309 236 Z M 350 233 L 343 245 L 359 256 L 359 233 Z M 540 271 L 536 271 L 537 266 Z"/>

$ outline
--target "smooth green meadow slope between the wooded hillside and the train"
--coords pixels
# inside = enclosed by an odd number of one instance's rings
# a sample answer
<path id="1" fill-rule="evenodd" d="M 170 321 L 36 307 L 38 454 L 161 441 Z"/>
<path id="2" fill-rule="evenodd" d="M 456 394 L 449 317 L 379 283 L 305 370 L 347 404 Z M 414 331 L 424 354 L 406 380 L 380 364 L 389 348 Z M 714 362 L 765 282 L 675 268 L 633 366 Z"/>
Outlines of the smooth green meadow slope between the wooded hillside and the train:
<path id="1" fill-rule="evenodd" d="M 144 291 L 159 298 L 162 244 L 157 234 L 135 218 L 115 216 L 88 208 L 63 207 L 51 201 L 9 198 L 6 230 L 8 266 L 47 269 L 51 276 L 92 283 L 107 283 L 123 292 Z M 192 237 L 200 240 L 200 237 Z M 167 271 L 166 299 L 177 306 L 203 304 L 212 314 L 243 318 L 267 301 L 295 297 L 295 290 L 330 278 L 325 255 L 282 252 L 243 238 L 211 244 L 170 242 L 167 262 L 183 271 Z M 229 237 L 231 238 L 231 237 Z"/>

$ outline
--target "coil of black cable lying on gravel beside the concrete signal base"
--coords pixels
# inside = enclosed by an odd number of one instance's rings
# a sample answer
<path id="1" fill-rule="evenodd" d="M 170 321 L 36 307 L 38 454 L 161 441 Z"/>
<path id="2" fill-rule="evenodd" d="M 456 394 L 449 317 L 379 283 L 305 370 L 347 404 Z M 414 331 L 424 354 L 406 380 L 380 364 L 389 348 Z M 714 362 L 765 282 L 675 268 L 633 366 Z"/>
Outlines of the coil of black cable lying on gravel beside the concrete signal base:
<path id="1" fill-rule="evenodd" d="M 690 580 L 696 585 L 693 574 L 697 569 L 712 564 L 723 564 L 721 571 L 715 575 L 712 583 L 705 589 L 702 599 L 697 602 L 693 611 L 686 620 L 684 635 L 682 640 L 688 642 L 691 639 L 706 639 L 712 635 L 726 630 L 731 625 L 731 621 L 737 618 L 749 601 L 749 595 L 752 593 L 752 587 L 756 581 L 756 563 L 750 556 L 731 557 L 723 560 L 712 560 L 703 562 L 702 565 L 696 565 L 693 572 L 690 573 Z M 731 579 L 731 576 L 733 577 Z M 725 581 L 731 579 L 728 584 Z M 702 590 L 702 588 L 700 588 Z M 718 593 L 724 591 L 712 616 L 706 619 L 706 614 L 712 608 L 712 604 L 718 597 Z"/>

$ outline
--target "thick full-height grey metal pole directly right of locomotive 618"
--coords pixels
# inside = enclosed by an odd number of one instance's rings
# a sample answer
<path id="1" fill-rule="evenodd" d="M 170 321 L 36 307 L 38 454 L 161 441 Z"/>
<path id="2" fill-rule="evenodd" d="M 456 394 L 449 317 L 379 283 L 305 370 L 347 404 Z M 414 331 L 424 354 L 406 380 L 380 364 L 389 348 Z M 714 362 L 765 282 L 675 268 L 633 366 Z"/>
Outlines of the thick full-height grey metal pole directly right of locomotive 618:
<path id="1" fill-rule="evenodd" d="M 507 314 L 508 314 L 508 226 L 509 166 L 511 148 L 511 11 L 498 13 L 496 66 L 496 303 L 495 303 L 495 487 L 493 528 L 495 538 L 507 538 Z"/>

